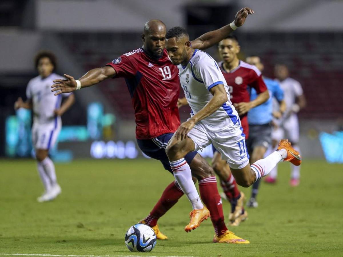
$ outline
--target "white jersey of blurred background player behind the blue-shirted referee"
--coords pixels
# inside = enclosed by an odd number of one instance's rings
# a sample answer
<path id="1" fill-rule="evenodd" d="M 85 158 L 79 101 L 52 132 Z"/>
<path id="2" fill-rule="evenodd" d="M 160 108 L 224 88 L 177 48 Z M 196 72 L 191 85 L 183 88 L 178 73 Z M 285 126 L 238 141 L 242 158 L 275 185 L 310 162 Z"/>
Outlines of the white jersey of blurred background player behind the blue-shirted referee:
<path id="1" fill-rule="evenodd" d="M 276 81 L 279 82 L 283 90 L 283 99 L 286 102 L 286 111 L 284 113 L 284 117 L 288 117 L 292 106 L 296 102 L 296 98 L 303 94 L 303 88 L 301 88 L 300 83 L 293 78 L 288 77 L 283 81 L 279 81 L 276 79 Z"/>

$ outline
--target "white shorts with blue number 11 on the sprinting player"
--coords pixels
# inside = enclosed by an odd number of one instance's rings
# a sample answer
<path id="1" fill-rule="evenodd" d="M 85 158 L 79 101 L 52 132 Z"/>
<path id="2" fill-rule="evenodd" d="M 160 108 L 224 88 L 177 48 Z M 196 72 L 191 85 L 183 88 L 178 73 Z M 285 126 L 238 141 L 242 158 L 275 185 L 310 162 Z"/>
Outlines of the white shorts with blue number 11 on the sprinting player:
<path id="1" fill-rule="evenodd" d="M 188 136 L 194 141 L 196 151 L 213 144 L 230 168 L 241 169 L 249 163 L 245 137 L 242 133 L 240 122 L 220 132 L 209 131 L 201 122 L 198 122 L 188 132 Z"/>

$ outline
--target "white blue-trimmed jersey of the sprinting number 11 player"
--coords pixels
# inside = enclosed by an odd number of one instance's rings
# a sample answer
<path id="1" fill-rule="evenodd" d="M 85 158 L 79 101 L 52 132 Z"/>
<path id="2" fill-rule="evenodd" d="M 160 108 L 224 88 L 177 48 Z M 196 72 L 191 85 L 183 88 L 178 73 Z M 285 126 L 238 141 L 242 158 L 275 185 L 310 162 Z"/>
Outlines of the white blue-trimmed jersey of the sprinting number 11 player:
<path id="1" fill-rule="evenodd" d="M 238 113 L 230 101 L 225 78 L 217 62 L 208 54 L 194 50 L 186 66 L 178 65 L 181 87 L 184 89 L 191 115 L 199 112 L 212 99 L 210 89 L 223 84 L 228 101 L 207 118 L 200 121 L 206 129 L 216 132 L 239 122 Z"/>

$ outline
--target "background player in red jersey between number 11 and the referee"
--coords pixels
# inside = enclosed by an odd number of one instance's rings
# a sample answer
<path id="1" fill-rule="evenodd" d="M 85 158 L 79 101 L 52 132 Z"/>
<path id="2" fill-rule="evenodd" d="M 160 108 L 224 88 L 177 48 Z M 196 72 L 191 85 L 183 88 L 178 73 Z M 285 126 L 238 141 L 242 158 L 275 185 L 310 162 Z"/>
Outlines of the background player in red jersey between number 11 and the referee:
<path id="1" fill-rule="evenodd" d="M 218 63 L 229 87 L 230 100 L 235 106 L 243 132 L 246 139 L 249 136 L 248 111 L 269 99 L 269 93 L 263 82 L 261 72 L 253 65 L 238 59 L 240 46 L 237 37 L 229 36 L 219 42 L 219 53 L 222 62 Z M 255 88 L 257 98 L 250 101 L 250 90 Z M 244 210 L 245 196 L 239 192 L 236 181 L 230 172 L 226 161 L 222 160 L 221 154 L 214 149 L 212 167 L 221 180 L 226 199 L 231 203 L 229 216 L 232 225 L 238 225 L 241 220 L 246 219 L 247 212 Z"/>

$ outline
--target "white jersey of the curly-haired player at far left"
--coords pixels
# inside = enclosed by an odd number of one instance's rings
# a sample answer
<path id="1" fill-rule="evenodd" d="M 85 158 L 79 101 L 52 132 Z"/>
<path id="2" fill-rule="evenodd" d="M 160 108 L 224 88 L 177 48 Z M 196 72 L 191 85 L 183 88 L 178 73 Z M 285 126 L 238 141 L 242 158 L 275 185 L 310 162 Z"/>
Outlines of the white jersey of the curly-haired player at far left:
<path id="1" fill-rule="evenodd" d="M 62 95 L 68 97 L 71 93 L 54 96 L 51 85 L 55 79 L 64 79 L 60 75 L 51 73 L 48 77 L 40 75 L 28 82 L 26 97 L 32 99 L 34 124 L 56 124 L 60 123 L 60 117 L 56 117 L 54 110 L 61 106 Z"/>

